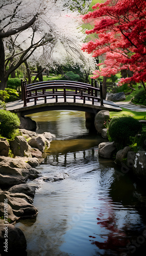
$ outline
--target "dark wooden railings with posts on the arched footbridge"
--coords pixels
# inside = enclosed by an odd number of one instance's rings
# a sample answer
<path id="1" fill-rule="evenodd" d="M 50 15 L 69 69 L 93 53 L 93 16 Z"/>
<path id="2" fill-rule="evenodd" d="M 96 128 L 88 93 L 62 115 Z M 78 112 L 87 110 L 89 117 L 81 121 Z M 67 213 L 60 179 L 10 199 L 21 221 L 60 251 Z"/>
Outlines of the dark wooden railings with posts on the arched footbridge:
<path id="1" fill-rule="evenodd" d="M 54 80 L 27 84 L 26 81 L 21 80 L 21 92 L 23 106 L 27 106 L 27 103 L 33 100 L 36 105 L 42 98 L 44 103 L 47 103 L 49 98 L 55 98 L 55 102 L 58 102 L 59 98 L 64 98 L 64 102 L 67 98 L 72 98 L 76 103 L 80 98 L 83 99 L 83 103 L 86 103 L 86 100 L 92 100 L 93 105 L 95 101 L 103 105 L 102 82 L 99 89 L 88 83 L 75 81 Z M 98 97 L 99 94 L 100 97 Z"/>

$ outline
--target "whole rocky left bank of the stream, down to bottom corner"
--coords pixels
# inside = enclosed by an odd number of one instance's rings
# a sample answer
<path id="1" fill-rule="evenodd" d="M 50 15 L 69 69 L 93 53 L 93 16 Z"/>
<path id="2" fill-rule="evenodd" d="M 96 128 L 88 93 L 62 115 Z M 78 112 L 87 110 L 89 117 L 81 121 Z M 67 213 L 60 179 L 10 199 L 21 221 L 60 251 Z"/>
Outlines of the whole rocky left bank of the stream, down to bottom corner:
<path id="1" fill-rule="evenodd" d="M 37 186 L 26 182 L 41 176 L 36 167 L 43 161 L 44 152 L 55 138 L 51 133 L 37 134 L 25 129 L 20 129 L 19 133 L 9 142 L 0 138 L 1 255 L 23 255 L 26 251 L 23 232 L 12 224 L 24 218 L 36 218 L 38 210 L 33 206 L 33 197 Z M 64 178 L 52 177 L 50 181 Z"/>

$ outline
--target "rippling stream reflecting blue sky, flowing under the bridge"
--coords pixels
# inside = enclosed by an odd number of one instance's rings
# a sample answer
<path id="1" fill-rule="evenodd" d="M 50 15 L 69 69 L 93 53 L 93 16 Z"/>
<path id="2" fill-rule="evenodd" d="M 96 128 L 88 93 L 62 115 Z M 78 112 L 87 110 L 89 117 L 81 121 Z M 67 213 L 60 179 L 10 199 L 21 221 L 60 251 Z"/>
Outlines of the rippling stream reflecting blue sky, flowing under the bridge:
<path id="1" fill-rule="evenodd" d="M 56 139 L 36 184 L 36 219 L 15 226 L 25 234 L 28 256 L 145 255 L 145 189 L 112 159 L 98 156 L 107 141 L 89 133 L 85 113 L 50 111 L 30 115 L 37 133 Z M 43 177 L 67 174 L 64 180 Z"/>

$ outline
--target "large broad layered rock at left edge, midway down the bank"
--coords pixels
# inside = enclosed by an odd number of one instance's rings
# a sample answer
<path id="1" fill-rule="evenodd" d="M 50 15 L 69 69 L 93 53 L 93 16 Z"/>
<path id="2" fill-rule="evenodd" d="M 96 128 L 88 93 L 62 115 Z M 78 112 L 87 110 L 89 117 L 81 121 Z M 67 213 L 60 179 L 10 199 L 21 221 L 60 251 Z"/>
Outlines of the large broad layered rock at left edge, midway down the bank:
<path id="1" fill-rule="evenodd" d="M 12 186 L 38 177 L 38 170 L 22 157 L 0 157 L 0 185 Z"/>

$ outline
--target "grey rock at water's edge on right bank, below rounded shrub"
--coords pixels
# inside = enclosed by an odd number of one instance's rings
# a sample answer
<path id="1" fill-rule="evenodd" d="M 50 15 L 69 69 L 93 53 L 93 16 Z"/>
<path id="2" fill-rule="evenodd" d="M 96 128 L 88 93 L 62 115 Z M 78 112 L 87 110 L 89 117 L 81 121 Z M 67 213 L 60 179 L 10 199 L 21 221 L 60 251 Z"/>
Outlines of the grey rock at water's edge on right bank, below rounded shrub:
<path id="1" fill-rule="evenodd" d="M 111 158 L 116 149 L 115 143 L 113 142 L 102 142 L 99 144 L 99 156 L 104 158 Z"/>

